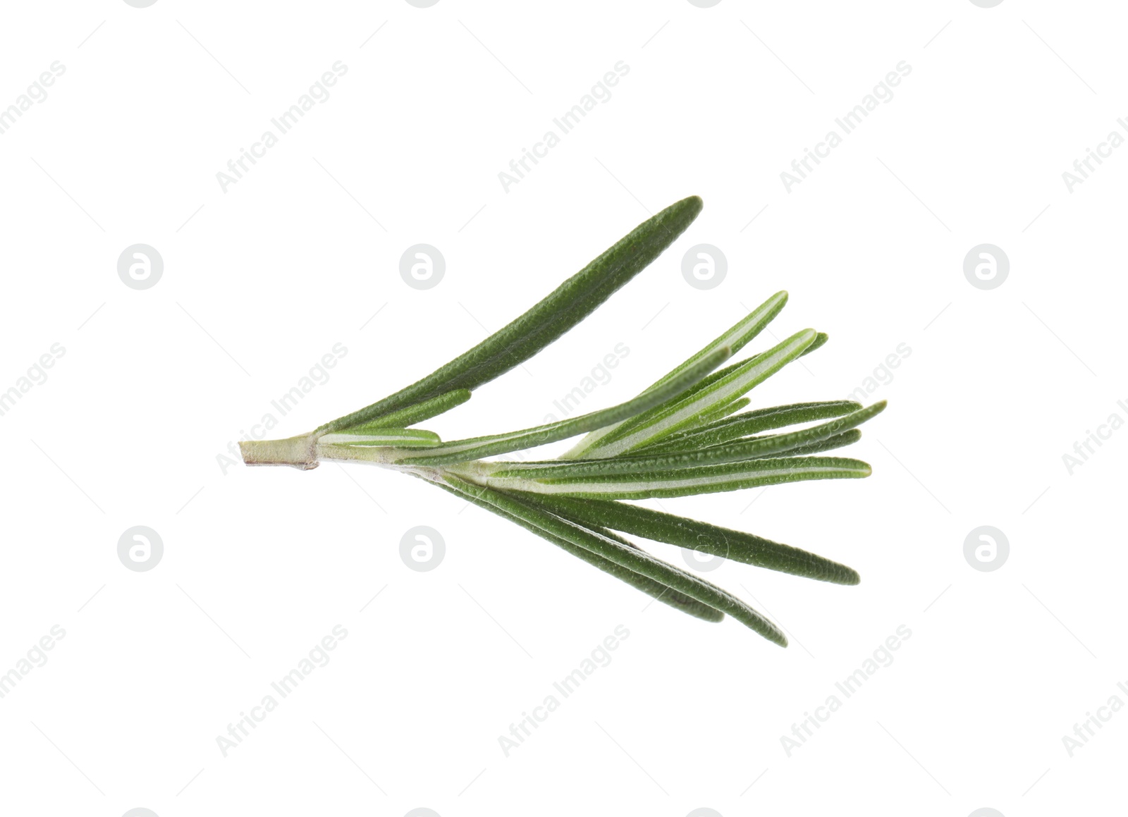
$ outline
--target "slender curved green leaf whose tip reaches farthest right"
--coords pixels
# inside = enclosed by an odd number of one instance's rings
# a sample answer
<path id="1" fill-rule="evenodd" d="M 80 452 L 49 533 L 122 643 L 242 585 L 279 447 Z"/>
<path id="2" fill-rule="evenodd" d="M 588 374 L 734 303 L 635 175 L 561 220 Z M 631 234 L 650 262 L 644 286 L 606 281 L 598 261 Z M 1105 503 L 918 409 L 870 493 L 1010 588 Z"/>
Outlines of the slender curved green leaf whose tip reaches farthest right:
<path id="1" fill-rule="evenodd" d="M 748 459 L 760 459 L 778 455 L 795 448 L 816 445 L 830 437 L 861 425 L 880 414 L 885 407 L 885 401 L 852 412 L 846 416 L 831 420 L 820 425 L 813 425 L 802 431 L 787 434 L 770 434 L 749 440 L 729 442 L 710 448 L 698 448 L 689 451 L 670 451 L 667 454 L 646 454 L 637 456 L 620 456 L 609 459 L 565 459 L 536 463 L 501 464 L 491 463 L 483 467 L 490 476 L 518 476 L 526 480 L 559 480 L 585 476 L 610 476 L 613 474 L 653 474 L 685 468 L 696 468 L 704 465 L 720 465 Z"/>

